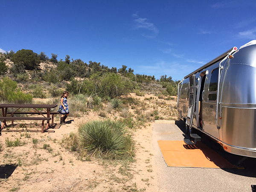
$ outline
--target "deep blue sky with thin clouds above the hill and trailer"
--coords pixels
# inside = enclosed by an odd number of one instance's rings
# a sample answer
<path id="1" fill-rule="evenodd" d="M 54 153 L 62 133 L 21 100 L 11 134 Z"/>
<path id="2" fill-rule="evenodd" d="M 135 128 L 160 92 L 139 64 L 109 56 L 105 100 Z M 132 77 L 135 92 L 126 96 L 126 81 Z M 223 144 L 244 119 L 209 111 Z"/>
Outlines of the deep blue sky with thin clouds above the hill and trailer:
<path id="1" fill-rule="evenodd" d="M 0 50 L 181 80 L 256 39 L 255 0 L 0 0 Z"/>

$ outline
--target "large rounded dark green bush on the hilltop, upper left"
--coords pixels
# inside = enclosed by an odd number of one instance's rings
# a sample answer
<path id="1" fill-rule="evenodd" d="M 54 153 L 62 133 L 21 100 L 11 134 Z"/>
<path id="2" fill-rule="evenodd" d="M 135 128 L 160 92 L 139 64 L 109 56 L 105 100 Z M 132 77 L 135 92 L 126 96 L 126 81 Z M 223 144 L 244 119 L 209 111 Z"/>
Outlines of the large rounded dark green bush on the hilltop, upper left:
<path id="1" fill-rule="evenodd" d="M 29 49 L 18 50 L 12 58 L 16 65 L 24 65 L 26 70 L 33 70 L 40 64 L 40 57 Z"/>

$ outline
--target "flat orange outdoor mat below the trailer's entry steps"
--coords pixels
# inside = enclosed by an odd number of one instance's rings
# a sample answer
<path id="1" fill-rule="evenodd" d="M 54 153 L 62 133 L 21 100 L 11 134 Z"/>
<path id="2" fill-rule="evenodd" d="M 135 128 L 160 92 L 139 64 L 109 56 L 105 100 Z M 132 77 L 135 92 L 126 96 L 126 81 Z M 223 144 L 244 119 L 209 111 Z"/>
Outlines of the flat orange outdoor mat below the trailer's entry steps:
<path id="1" fill-rule="evenodd" d="M 163 158 L 171 167 L 235 168 L 224 157 L 200 141 L 187 145 L 184 141 L 157 141 Z"/>

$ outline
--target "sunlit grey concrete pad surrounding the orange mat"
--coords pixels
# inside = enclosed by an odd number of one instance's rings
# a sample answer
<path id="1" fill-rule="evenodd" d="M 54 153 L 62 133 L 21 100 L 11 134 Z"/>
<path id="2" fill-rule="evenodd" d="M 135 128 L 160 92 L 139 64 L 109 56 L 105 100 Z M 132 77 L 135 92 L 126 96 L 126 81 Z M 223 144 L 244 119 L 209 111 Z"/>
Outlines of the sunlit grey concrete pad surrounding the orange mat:
<path id="1" fill-rule="evenodd" d="M 252 160 L 251 165 L 244 162 L 244 170 L 168 167 L 157 140 L 183 140 L 184 132 L 184 122 L 152 124 L 152 148 L 157 166 L 155 174 L 159 188 L 158 192 L 252 191 L 251 185 L 256 184 L 256 160 Z"/>

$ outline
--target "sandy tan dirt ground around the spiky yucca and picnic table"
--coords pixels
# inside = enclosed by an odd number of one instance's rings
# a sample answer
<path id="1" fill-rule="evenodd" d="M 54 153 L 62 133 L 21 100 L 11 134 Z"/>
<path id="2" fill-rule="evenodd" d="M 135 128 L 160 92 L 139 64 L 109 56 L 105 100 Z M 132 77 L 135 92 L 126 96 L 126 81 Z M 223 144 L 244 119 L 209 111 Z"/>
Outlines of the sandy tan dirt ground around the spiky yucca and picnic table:
<path id="1" fill-rule="evenodd" d="M 170 109 L 176 105 L 176 100 L 164 100 L 153 95 L 143 97 L 131 94 L 145 105 L 145 111 L 159 111 L 160 119 L 177 118 L 170 114 Z M 154 97 L 155 99 L 144 100 Z M 134 113 L 135 109 L 129 109 Z M 108 117 L 118 116 L 120 112 Z M 172 112 L 175 113 L 175 112 Z M 157 192 L 157 178 L 154 154 L 152 150 L 151 126 L 154 120 L 149 120 L 140 128 L 131 129 L 135 141 L 134 162 L 102 160 L 95 157 L 79 158 L 76 151 L 65 148 L 64 140 L 70 132 L 76 133 L 81 122 L 93 119 L 105 119 L 93 110 L 86 115 L 74 118 L 68 117 L 67 124 L 51 132 L 41 134 L 40 123 L 16 122 L 12 132 L 2 131 L 0 136 L 0 191 L 17 192 L 67 192 L 67 191 L 145 191 Z M 135 113 L 134 113 L 135 114 Z M 118 116 L 118 118 L 122 118 Z M 170 119 L 171 118 L 171 119 Z M 55 118 L 58 122 L 59 118 Z M 22 123 L 26 128 L 22 128 Z M 58 125 L 57 125 L 58 127 Z M 39 132 L 15 132 L 22 129 L 38 130 Z M 54 131 L 54 133 L 53 133 Z M 22 146 L 7 147 L 6 138 L 11 141 L 20 140 Z M 37 139 L 37 143 L 35 140 Z M 34 141 L 34 143 L 33 143 Z M 49 147 L 43 148 L 44 144 Z M 5 175 L 6 174 L 6 175 Z M 6 178 L 5 178 L 6 177 Z"/>

